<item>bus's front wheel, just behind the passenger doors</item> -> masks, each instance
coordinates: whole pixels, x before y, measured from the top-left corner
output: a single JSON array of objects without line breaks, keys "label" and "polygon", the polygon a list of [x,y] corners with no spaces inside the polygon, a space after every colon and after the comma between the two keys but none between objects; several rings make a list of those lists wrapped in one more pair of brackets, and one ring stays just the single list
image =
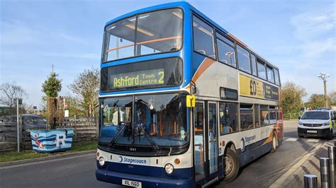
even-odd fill
[{"label": "bus's front wheel, just behind the passenger doors", "polygon": [[226,149],[224,155],[224,182],[232,182],[239,171],[239,160],[236,153],[230,148]]}]

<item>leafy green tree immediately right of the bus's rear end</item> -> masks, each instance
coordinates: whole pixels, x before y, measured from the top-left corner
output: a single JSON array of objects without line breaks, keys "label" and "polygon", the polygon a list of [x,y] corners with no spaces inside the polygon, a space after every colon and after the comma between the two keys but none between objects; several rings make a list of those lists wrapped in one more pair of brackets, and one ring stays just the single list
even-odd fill
[{"label": "leafy green tree immediately right of the bus's rear end", "polygon": [[284,113],[299,112],[303,107],[302,98],[306,96],[306,89],[288,81],[281,88],[281,102]]}]

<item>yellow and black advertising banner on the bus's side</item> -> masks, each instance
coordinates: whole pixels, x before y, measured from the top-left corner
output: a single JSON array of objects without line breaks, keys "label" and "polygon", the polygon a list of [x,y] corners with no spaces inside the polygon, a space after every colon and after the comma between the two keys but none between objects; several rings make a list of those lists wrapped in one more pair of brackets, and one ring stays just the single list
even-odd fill
[{"label": "yellow and black advertising banner on the bus's side", "polygon": [[249,76],[240,74],[239,85],[240,95],[242,96],[279,100],[279,88],[262,81],[257,81]]}]

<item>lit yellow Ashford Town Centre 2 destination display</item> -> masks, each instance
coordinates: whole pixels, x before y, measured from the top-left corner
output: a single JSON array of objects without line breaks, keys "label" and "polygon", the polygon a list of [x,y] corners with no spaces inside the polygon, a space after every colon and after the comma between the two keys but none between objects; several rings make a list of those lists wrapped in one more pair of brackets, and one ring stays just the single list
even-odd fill
[{"label": "lit yellow Ashford Town Centre 2 destination display", "polygon": [[134,71],[110,76],[110,88],[128,88],[164,84],[164,69]]}]

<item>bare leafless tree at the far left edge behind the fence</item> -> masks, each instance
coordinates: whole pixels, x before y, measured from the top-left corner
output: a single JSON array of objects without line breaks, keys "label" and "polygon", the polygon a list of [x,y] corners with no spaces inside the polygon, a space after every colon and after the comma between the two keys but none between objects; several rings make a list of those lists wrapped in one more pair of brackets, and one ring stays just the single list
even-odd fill
[{"label": "bare leafless tree at the far left edge behind the fence", "polygon": [[27,98],[28,94],[21,86],[16,82],[6,82],[0,85],[0,105],[7,107],[13,107],[16,104],[13,103],[14,98]]}]

